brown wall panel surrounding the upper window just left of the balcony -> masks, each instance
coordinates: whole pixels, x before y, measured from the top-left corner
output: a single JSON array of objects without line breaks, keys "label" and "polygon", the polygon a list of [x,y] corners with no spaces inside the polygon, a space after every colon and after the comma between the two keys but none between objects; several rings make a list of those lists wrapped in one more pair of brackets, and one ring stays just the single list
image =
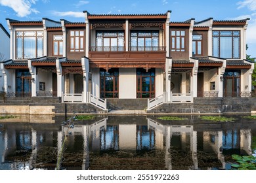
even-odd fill
[{"label": "brown wall panel surrounding the upper window just left of the balcony", "polygon": [[[70,27],[69,29],[66,29],[66,33],[67,33],[66,34],[66,54],[68,59],[81,59],[82,57],[85,56],[85,50],[84,52],[70,52],[70,31],[76,31],[76,30],[85,31],[85,29],[81,29],[81,27],[79,27],[79,29],[77,29],[77,27],[72,27],[72,28]],[[84,48],[85,48],[85,37],[84,37]]]}]

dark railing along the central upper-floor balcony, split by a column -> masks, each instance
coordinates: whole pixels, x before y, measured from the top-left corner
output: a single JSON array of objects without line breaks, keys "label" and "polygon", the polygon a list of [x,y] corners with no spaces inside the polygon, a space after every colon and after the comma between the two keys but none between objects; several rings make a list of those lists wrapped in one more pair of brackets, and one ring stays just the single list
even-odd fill
[{"label": "dark railing along the central upper-floor balcony, split by a column", "polygon": [[[90,46],[90,52],[125,52],[124,46]],[[159,52],[165,51],[165,46],[130,46],[129,52]]]}]

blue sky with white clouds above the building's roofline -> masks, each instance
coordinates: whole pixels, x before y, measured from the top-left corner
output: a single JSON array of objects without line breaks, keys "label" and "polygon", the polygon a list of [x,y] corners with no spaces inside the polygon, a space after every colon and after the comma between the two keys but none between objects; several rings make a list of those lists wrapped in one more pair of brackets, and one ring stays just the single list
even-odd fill
[{"label": "blue sky with white clouds above the building's roofline", "polygon": [[256,0],[0,0],[0,23],[7,29],[5,18],[64,18],[83,22],[83,10],[91,14],[151,14],[171,10],[171,21],[251,18],[247,28],[247,54],[256,57]]}]

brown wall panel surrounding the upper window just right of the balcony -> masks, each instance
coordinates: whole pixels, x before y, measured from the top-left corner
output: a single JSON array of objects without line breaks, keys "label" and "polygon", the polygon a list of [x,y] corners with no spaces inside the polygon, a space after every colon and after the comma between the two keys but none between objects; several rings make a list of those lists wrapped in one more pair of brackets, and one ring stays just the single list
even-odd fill
[{"label": "brown wall panel surrounding the upper window just right of the balcony", "polygon": [[[184,52],[171,52],[171,31],[175,31],[175,30],[184,30],[185,31],[185,51]],[[188,29],[182,29],[182,28],[171,28],[170,29],[170,54],[171,54],[171,58],[173,58],[174,60],[179,60],[179,59],[189,59],[189,31]]]}]

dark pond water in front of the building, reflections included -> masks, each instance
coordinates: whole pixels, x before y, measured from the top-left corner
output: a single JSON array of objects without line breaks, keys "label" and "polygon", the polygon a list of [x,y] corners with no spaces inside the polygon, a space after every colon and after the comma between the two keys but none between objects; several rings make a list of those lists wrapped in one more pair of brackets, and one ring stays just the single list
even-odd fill
[{"label": "dark pond water in front of the building, reflections included", "polygon": [[0,169],[56,169],[61,152],[62,169],[231,169],[232,154],[255,153],[256,120],[158,117],[96,116],[75,121],[71,129],[64,116],[3,119]]}]

